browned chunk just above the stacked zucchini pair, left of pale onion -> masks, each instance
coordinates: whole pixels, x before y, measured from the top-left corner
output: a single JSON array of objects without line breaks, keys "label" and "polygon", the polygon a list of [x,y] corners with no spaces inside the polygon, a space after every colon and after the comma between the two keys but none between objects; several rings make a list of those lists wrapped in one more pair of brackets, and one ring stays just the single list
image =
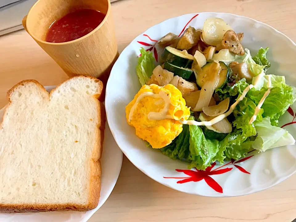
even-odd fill
[{"label": "browned chunk just above the stacked zucchini pair, left of pale onion", "polygon": [[188,50],[192,46],[195,46],[200,39],[200,34],[201,34],[200,30],[198,29],[195,30],[195,28],[189,26],[184,32],[184,34],[182,35],[182,37],[180,38],[177,44],[177,49]]}]

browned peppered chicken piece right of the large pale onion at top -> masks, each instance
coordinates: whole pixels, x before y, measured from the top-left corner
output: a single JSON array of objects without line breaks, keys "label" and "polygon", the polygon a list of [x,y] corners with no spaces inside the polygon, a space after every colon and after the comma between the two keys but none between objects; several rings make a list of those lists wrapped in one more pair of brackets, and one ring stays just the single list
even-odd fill
[{"label": "browned peppered chicken piece right of the large pale onion at top", "polygon": [[239,37],[233,30],[225,32],[222,38],[221,45],[223,48],[228,49],[236,55],[245,55],[244,48],[241,45]]}]

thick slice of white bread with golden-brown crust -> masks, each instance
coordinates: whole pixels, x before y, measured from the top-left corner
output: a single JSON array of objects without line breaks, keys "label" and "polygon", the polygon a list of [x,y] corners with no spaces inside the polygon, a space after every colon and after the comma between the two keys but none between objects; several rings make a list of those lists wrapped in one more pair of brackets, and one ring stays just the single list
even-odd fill
[{"label": "thick slice of white bread with golden-brown crust", "polygon": [[103,84],[75,76],[49,94],[35,80],[7,92],[0,125],[0,211],[87,211],[101,187]]}]

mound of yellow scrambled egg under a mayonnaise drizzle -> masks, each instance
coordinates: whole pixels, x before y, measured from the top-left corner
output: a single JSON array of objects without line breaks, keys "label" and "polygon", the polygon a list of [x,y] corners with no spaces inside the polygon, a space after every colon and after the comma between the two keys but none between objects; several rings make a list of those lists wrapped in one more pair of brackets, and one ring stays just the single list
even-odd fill
[{"label": "mound of yellow scrambled egg under a mayonnaise drizzle", "polygon": [[[161,91],[167,93],[170,98],[171,104],[167,115],[174,119],[149,120],[148,113],[161,111],[165,102],[162,98],[147,96],[139,101],[131,121],[129,121],[130,111],[143,92],[159,93]],[[149,142],[153,148],[162,148],[170,144],[182,132],[183,125],[178,120],[187,120],[190,116],[190,108],[186,107],[181,92],[172,84],[163,87],[151,84],[142,86],[134,99],[125,107],[125,113],[127,122],[135,127],[136,135],[139,138]]]}]

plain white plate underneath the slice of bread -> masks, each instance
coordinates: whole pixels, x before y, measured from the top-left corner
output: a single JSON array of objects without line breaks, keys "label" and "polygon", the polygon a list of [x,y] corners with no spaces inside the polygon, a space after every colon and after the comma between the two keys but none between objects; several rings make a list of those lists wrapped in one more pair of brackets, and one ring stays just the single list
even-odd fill
[{"label": "plain white plate underneath the slice of bread", "polygon": [[[50,92],[55,86],[46,86]],[[4,108],[0,110],[0,119],[2,119]],[[107,200],[111,194],[122,164],[122,152],[117,146],[114,138],[110,132],[108,123],[106,122],[105,138],[103,144],[103,154],[101,157],[102,166],[102,181],[101,193],[98,206],[87,212],[76,211],[55,211],[55,212],[41,212],[41,213],[2,213],[0,214],[0,221],[15,222],[15,221],[30,221],[30,222],[85,222],[87,221]]]}]

